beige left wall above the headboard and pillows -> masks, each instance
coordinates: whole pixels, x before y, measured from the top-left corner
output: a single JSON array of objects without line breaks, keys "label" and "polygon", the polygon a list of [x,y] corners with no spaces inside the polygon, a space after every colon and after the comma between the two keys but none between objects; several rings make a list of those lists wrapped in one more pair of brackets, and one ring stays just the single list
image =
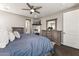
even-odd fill
[{"label": "beige left wall above the headboard and pillows", "polygon": [[25,17],[0,11],[0,27],[24,27]]}]

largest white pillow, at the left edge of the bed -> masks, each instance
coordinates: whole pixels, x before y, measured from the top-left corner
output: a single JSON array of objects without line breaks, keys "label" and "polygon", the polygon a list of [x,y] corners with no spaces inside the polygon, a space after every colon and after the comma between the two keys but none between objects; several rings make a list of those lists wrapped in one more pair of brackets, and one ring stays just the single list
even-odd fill
[{"label": "largest white pillow, at the left edge of the bed", "polygon": [[0,30],[0,48],[5,48],[9,43],[8,31]]}]

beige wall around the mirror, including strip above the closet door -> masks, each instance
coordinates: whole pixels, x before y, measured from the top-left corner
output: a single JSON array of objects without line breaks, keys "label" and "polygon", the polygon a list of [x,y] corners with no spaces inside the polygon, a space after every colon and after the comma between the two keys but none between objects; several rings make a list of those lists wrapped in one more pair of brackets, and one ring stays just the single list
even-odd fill
[{"label": "beige wall around the mirror, including strip above the closet door", "polygon": [[52,14],[51,16],[41,18],[41,30],[46,30],[46,20],[55,19],[57,18],[57,30],[63,31],[63,13],[79,9],[79,6],[74,6],[69,9],[60,11],[58,13]]}]

